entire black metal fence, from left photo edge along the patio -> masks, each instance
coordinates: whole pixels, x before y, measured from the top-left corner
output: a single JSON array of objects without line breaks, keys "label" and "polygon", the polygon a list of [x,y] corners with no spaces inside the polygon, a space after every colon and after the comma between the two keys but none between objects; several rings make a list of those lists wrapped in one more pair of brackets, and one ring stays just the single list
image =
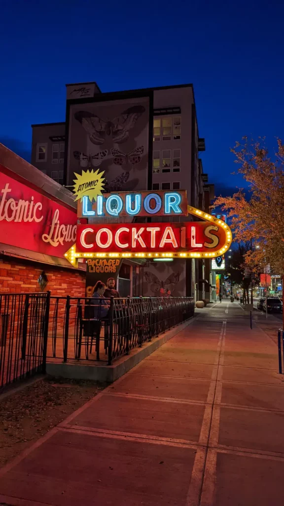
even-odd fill
[{"label": "entire black metal fence, from left photo edge along the patio", "polygon": [[46,358],[111,364],[194,315],[191,298],[0,295],[0,389],[44,372]]}]

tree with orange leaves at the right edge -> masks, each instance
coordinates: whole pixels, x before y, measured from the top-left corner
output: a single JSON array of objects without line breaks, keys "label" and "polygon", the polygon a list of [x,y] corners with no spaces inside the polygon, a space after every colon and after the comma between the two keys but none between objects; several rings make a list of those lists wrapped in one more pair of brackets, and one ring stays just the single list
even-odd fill
[{"label": "tree with orange leaves at the right edge", "polygon": [[249,184],[249,198],[243,189],[232,197],[218,197],[215,205],[226,210],[235,239],[250,241],[246,265],[263,272],[270,265],[277,274],[284,273],[284,145],[278,139],[273,159],[264,145],[244,137],[231,149],[242,174]]}]

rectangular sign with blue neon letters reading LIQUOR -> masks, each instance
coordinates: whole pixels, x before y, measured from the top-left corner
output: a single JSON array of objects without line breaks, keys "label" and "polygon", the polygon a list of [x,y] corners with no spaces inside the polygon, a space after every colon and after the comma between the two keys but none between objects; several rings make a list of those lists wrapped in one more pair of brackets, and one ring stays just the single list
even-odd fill
[{"label": "rectangular sign with blue neon letters reading LIQUOR", "polygon": [[93,202],[83,195],[77,212],[78,218],[187,215],[185,190],[104,193]]}]

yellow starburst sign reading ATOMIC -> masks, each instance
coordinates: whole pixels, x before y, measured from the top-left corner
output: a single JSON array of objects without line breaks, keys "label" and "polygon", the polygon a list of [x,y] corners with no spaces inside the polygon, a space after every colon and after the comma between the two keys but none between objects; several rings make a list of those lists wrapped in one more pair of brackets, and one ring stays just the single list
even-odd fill
[{"label": "yellow starburst sign reading ATOMIC", "polygon": [[83,199],[84,196],[89,197],[90,201],[97,200],[98,195],[102,195],[102,190],[104,189],[104,181],[105,178],[104,172],[99,172],[99,169],[94,172],[91,171],[82,171],[82,174],[75,174],[77,179],[74,179],[74,190],[73,192],[76,195],[75,201]]}]

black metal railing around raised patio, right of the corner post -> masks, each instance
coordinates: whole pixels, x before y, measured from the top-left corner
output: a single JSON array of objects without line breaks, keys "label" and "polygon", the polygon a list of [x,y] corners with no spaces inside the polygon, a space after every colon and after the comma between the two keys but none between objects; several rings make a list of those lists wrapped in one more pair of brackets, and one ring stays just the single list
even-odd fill
[{"label": "black metal railing around raised patio, right of the corner post", "polygon": [[51,297],[47,357],[110,365],[194,315],[192,298]]}]

